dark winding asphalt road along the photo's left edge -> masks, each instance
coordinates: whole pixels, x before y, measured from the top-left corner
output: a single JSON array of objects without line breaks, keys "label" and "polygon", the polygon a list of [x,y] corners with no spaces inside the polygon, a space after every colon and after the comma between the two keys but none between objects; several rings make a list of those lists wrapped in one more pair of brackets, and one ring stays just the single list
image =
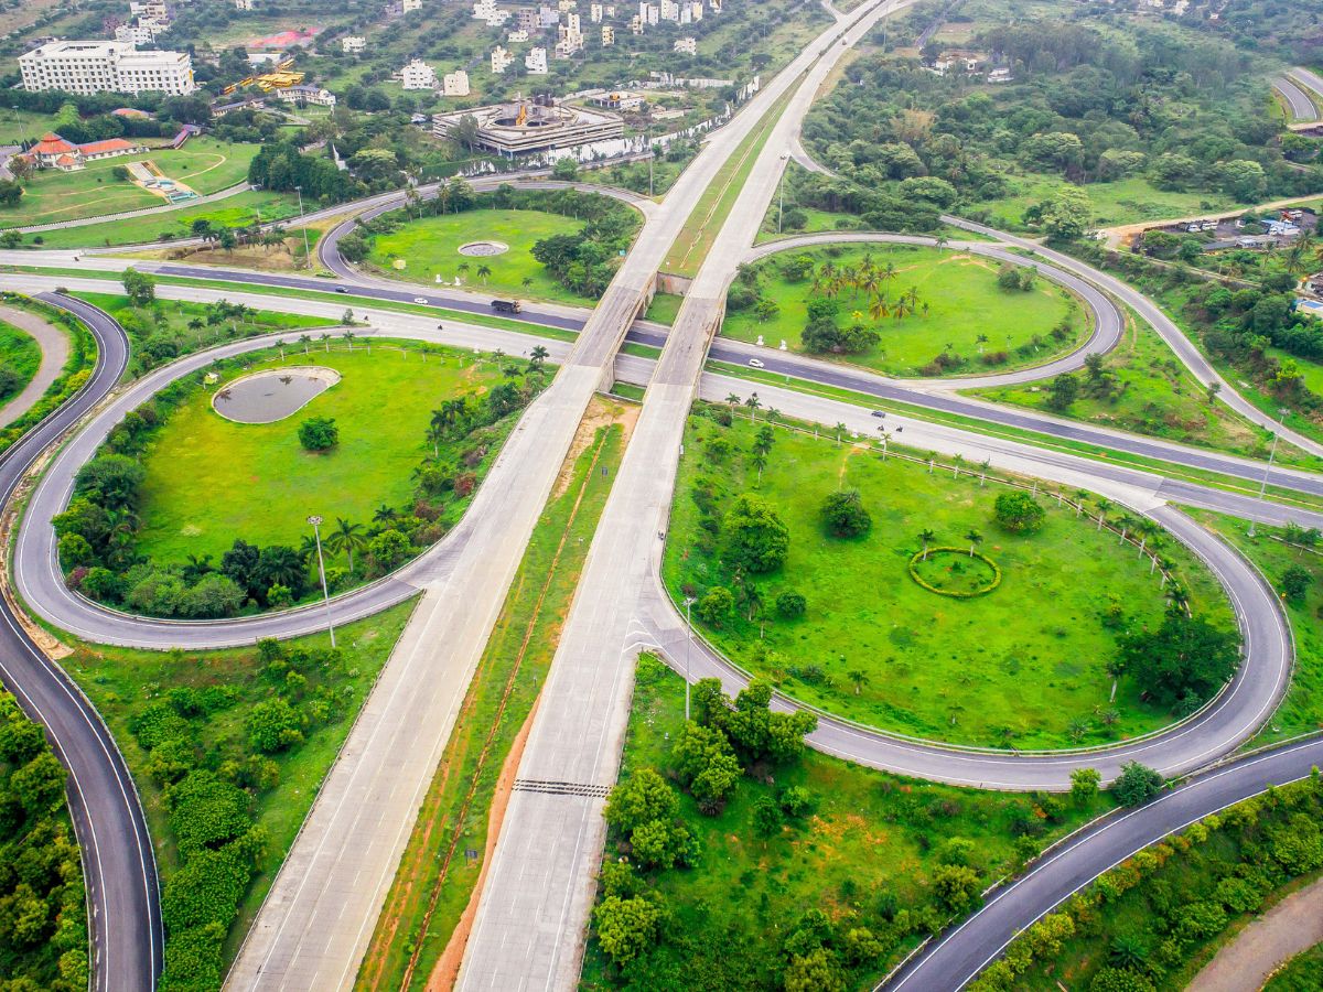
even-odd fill
[{"label": "dark winding asphalt road along the photo's left edge", "polygon": [[[42,294],[73,310],[97,339],[98,358],[85,389],[0,455],[0,501],[9,504],[29,466],[86,413],[123,373],[128,341],[99,311]],[[33,643],[0,600],[0,679],[41,722],[69,770],[67,795],[82,854],[97,992],[149,989],[161,968],[156,862],[138,794],[115,741],[91,704]]]}]

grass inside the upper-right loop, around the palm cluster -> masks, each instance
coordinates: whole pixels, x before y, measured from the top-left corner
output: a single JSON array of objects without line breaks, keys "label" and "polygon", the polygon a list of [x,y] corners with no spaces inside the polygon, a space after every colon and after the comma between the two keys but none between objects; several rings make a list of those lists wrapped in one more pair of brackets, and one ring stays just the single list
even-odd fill
[{"label": "grass inside the upper-right loop, around the palm cluster", "polygon": [[[889,298],[896,299],[912,287],[916,290],[919,307],[902,319],[869,317],[867,292],[847,287],[836,298],[841,311],[837,323],[853,323],[853,313],[859,312],[859,323],[881,335],[877,345],[845,358],[888,374],[931,374],[931,369],[927,373],[921,370],[943,352],[963,360],[951,369],[962,374],[1039,365],[1054,354],[1069,352],[1089,329],[1089,320],[1074,296],[1046,279],[1036,279],[1029,291],[1008,291],[998,287],[996,262],[978,255],[909,245],[859,245],[787,251],[763,259],[755,271],[761,276],[763,296],[779,308],[777,315],[759,321],[753,308],[728,312],[722,335],[741,341],[757,341],[762,336],[773,348],[785,340],[792,351],[804,351],[800,332],[808,323],[807,306],[822,295],[822,290],[814,288],[811,276],[790,282],[782,275],[781,267],[799,255],[812,258],[819,272],[828,262],[841,270],[857,267],[865,257],[872,258],[878,269],[896,269],[894,279],[885,284]],[[1065,340],[1056,341],[1049,335],[1062,321],[1069,321],[1070,333]],[[987,340],[980,343],[979,336]],[[1035,339],[1040,341],[1037,351],[1033,351]],[[980,348],[987,353],[1008,352],[1011,361],[986,366],[978,361]],[[1024,354],[1016,352],[1021,348]]]}]

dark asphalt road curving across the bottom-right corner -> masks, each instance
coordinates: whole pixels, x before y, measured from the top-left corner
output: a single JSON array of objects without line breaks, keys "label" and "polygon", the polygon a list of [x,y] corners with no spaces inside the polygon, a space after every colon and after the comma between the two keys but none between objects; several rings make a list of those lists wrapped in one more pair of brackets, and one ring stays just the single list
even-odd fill
[{"label": "dark asphalt road curving across the bottom-right corner", "polygon": [[1318,765],[1323,765],[1323,741],[1306,741],[1213,770],[1147,806],[1109,816],[1073,835],[1024,874],[998,888],[980,910],[938,936],[878,988],[889,992],[963,988],[1021,930],[1107,869],[1269,786],[1306,778]]}]

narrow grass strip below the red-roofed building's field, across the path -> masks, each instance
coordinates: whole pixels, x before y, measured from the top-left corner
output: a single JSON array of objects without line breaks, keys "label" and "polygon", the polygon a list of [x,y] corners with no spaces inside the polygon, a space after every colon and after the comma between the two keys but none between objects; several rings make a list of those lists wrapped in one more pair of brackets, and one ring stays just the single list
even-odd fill
[{"label": "narrow grass strip below the red-roofed building's field, across the path", "polygon": [[[148,206],[156,205],[148,204]],[[177,210],[130,217],[124,221],[107,221],[82,227],[61,227],[41,234],[25,234],[24,243],[37,243],[36,238],[41,238],[41,246],[49,249],[144,245],[153,241],[191,237],[193,221],[202,218],[226,227],[246,227],[258,221],[287,221],[298,216],[298,202],[288,193],[250,189],[246,193],[235,193],[212,204],[181,206]]]}]

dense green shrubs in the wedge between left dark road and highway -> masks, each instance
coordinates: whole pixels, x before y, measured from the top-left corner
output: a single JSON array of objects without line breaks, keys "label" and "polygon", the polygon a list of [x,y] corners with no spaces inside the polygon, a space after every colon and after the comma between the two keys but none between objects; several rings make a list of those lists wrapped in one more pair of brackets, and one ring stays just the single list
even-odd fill
[{"label": "dense green shrubs in the wedge between left dark road and highway", "polygon": [[221,987],[225,938],[266,853],[254,806],[279,784],[280,761],[347,716],[343,652],[257,648],[245,682],[176,685],[128,721],[179,852],[161,891],[163,992]]}]

